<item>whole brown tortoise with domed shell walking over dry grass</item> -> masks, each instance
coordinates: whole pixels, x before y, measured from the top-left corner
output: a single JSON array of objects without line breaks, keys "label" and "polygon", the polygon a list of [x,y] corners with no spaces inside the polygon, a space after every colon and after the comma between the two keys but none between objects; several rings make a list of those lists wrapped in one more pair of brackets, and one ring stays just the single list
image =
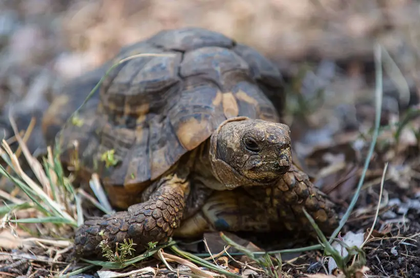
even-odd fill
[{"label": "whole brown tortoise with domed shell walking over dry grass", "polygon": [[[110,65],[132,55],[65,124]],[[255,49],[192,27],[124,47],[71,82],[44,115],[45,137],[59,138],[77,176],[98,173],[120,209],[77,229],[76,256],[100,256],[103,240],[114,248],[130,238],[140,251],[205,231],[308,233],[303,209],[323,231],[337,226],[333,204],[292,162],[282,84]]]}]

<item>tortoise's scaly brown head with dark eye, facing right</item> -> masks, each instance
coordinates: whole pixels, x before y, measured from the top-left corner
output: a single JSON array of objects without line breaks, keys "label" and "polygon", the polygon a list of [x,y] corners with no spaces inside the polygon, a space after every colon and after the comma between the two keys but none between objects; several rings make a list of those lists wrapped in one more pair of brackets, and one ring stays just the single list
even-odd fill
[{"label": "tortoise's scaly brown head with dark eye, facing right", "polygon": [[228,119],[212,134],[210,158],[226,189],[271,184],[290,169],[290,129],[247,117]]}]

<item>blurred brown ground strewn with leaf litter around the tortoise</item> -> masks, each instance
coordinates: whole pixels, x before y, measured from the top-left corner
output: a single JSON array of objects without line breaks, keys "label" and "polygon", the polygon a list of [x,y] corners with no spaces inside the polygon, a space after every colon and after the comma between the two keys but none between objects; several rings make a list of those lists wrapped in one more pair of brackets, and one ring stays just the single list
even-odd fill
[{"label": "blurred brown ground strewn with leaf litter around the tortoise", "polygon": [[[372,139],[374,45],[379,43],[384,60],[381,129],[360,198],[342,234],[367,236],[371,230],[388,162],[379,213],[363,248],[370,269],[365,276],[418,277],[419,13],[420,4],[409,0],[3,0],[0,134],[4,127],[5,138],[12,136],[11,110],[22,125],[29,124],[28,116],[39,119],[63,84],[112,58],[120,47],[163,29],[204,27],[276,62],[287,84],[285,120],[296,151],[293,159],[343,214]],[[46,147],[40,132],[38,121],[28,140],[35,154]],[[278,249],[276,240],[274,236],[265,249]],[[0,245],[10,252],[1,238]],[[40,250],[37,246],[31,252]],[[4,253],[0,276],[48,275],[43,262],[10,259]],[[284,277],[326,273],[322,255],[310,251],[283,259]]]}]

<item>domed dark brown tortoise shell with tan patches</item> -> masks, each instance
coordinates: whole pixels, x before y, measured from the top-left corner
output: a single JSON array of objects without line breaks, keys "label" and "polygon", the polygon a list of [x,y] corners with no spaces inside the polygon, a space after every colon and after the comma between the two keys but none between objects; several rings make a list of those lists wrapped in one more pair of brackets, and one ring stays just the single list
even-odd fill
[{"label": "domed dark brown tortoise shell with tan patches", "polygon": [[[113,61],[81,77],[84,87],[73,82],[73,89],[61,96],[72,102],[52,104],[45,132],[57,130],[62,123],[57,119],[63,118],[57,113],[66,114],[69,107],[74,111],[89,94],[86,84],[93,88],[92,80],[99,81],[105,67],[136,54],[166,56],[122,62],[78,112],[81,124],[70,123],[61,131],[64,149],[74,149],[77,140],[82,166],[99,173],[116,206],[136,202],[132,199],[137,193],[208,139],[224,120],[280,120],[282,77],[271,62],[220,33],[183,28],[122,48]],[[101,158],[111,150],[118,163],[107,167]],[[63,155],[68,162],[70,154]]]}]

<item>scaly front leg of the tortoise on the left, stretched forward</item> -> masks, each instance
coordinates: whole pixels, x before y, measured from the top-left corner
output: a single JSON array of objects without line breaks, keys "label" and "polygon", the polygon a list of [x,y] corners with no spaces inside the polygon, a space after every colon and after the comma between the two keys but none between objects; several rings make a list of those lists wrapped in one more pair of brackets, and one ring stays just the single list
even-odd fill
[{"label": "scaly front leg of the tortoise on the left, stretched forward", "polygon": [[108,240],[115,250],[116,243],[132,239],[137,251],[144,250],[149,242],[162,242],[172,236],[180,225],[190,182],[171,174],[162,178],[149,200],[132,205],[128,211],[88,220],[78,228],[74,245],[76,256],[100,256],[99,244]]}]

